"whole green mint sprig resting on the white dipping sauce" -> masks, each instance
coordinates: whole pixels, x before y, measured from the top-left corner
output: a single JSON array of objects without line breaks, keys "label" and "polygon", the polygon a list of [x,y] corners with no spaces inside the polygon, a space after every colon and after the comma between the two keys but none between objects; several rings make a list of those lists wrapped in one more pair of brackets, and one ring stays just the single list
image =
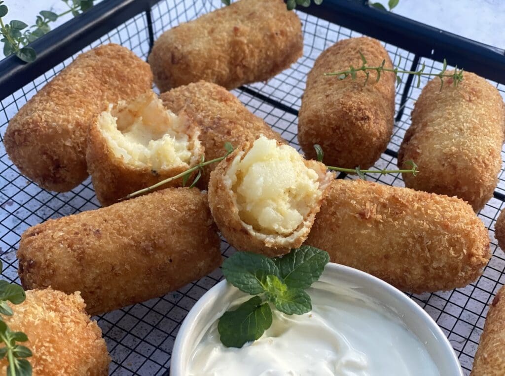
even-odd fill
[{"label": "whole green mint sprig resting on the white dipping sauce", "polygon": [[218,332],[226,347],[242,347],[259,339],[272,325],[272,304],[286,315],[302,315],[312,309],[305,291],[330,261],[324,250],[302,245],[288,255],[266,256],[237,252],[223,262],[223,274],[233,286],[256,295],[219,319]]}]

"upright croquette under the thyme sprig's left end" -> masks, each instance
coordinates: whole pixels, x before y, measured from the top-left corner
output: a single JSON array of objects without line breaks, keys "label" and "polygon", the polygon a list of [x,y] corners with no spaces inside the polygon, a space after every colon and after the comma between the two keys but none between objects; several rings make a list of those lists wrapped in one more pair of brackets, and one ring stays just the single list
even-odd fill
[{"label": "upright croquette under the thyme sprig's left end", "polygon": [[[307,158],[315,158],[314,144],[324,150],[325,163],[345,168],[368,168],[386,149],[393,130],[395,75],[357,72],[340,80],[325,73],[361,67],[360,51],[370,67],[385,61],[387,51],[376,39],[349,38],[335,43],[317,58],[307,77],[298,120],[298,141]],[[366,84],[365,84],[366,81]]]}]

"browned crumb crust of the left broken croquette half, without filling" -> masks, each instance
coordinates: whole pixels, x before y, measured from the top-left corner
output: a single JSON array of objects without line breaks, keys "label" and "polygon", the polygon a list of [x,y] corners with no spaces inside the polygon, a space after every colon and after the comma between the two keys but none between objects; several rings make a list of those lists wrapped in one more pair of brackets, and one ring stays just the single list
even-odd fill
[{"label": "browned crumb crust of the left broken croquette half, without filling", "polygon": [[[204,148],[196,146],[194,143],[194,140],[198,139],[200,131],[196,123],[184,111],[179,112],[178,116],[182,116],[184,121],[190,123],[189,132],[192,135],[194,149],[190,167],[193,167],[201,161],[201,157],[204,155]],[[94,121],[88,130],[86,162],[96,198],[102,206],[115,204],[133,192],[187,170],[187,167],[184,166],[153,170],[148,166],[138,167],[125,163],[122,157],[116,156],[111,150],[97,121]],[[182,177],[172,180],[158,189],[179,186],[182,186]]]}]

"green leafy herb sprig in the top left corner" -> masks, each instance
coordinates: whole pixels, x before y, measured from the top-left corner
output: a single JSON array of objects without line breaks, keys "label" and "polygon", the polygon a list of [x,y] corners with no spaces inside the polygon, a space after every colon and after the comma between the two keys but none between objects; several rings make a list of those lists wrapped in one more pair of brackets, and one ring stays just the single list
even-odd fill
[{"label": "green leafy herb sprig in the top left corner", "polygon": [[[0,34],[3,37],[0,42],[4,43],[4,55],[9,56],[14,53],[25,62],[34,61],[37,58],[37,53],[27,45],[51,31],[50,22],[55,22],[69,13],[72,16],[77,16],[93,6],[93,0],[62,1],[68,6],[68,10],[60,14],[52,11],[40,11],[35,24],[31,26],[19,20],[12,20],[8,24],[4,23],[3,17],[9,13],[9,9],[4,1],[0,1]],[[21,32],[22,30],[24,32]]]}]

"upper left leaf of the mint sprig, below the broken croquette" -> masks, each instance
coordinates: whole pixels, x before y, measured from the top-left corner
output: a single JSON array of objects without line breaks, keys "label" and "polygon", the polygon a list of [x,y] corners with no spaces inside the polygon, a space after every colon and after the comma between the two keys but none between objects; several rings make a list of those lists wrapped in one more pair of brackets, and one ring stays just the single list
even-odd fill
[{"label": "upper left leaf of the mint sprig, below the broken croquette", "polygon": [[267,289],[267,276],[279,275],[275,263],[266,256],[237,252],[223,262],[223,274],[228,282],[250,295]]}]

